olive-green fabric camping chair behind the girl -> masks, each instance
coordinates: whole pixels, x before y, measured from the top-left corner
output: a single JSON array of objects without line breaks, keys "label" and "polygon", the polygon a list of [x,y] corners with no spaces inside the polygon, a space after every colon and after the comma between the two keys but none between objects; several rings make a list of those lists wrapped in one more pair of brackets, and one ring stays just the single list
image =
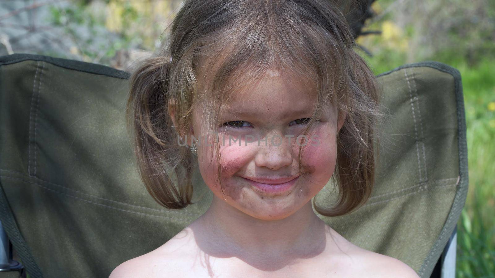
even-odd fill
[{"label": "olive-green fabric camping chair behind the girl", "polygon": [[[125,127],[128,78],[99,64],[0,57],[4,269],[16,267],[10,240],[30,277],[108,277],[208,208],[212,194],[198,169],[195,204],[169,210],[148,194]],[[397,258],[420,277],[453,278],[455,226],[468,188],[460,74],[427,61],[378,80],[387,117],[376,187],[358,210],[318,216],[354,244]],[[332,205],[331,188],[329,182],[315,197],[319,203]],[[0,272],[0,278],[17,276]]]}]

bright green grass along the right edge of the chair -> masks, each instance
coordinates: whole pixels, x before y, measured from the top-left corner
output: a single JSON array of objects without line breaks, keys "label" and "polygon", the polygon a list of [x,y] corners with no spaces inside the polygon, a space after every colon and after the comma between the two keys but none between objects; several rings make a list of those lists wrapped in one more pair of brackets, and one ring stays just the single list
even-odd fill
[{"label": "bright green grass along the right edge of the chair", "polygon": [[[406,55],[391,49],[373,54],[365,58],[375,74],[406,64]],[[469,65],[444,53],[425,60],[446,63],[462,78],[469,189],[457,223],[456,277],[495,277],[495,58]]]}]

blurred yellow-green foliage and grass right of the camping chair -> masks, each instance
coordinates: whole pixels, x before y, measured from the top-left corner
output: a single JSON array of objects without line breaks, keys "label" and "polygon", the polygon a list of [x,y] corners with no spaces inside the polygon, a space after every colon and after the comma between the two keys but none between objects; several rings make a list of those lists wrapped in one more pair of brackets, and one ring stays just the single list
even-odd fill
[{"label": "blurred yellow-green foliage and grass right of the camping chair", "polygon": [[376,74],[423,60],[461,73],[469,190],[457,224],[456,277],[495,277],[495,1],[379,0],[373,8],[381,18],[368,26],[382,36],[358,43],[373,53],[363,56]]}]

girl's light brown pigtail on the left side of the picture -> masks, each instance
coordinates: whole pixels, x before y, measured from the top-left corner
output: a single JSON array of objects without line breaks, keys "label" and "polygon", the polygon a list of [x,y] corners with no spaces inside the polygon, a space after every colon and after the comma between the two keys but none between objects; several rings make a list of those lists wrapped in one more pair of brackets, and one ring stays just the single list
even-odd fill
[{"label": "girl's light brown pigtail on the left side of the picture", "polygon": [[168,113],[171,59],[153,55],[137,64],[129,81],[126,121],[141,180],[160,205],[192,204],[191,153],[177,142]]}]

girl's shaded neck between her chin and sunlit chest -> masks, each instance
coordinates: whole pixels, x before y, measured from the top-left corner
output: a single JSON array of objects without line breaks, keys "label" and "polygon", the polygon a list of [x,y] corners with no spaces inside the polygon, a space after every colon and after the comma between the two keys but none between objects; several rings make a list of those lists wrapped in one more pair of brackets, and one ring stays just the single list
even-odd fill
[{"label": "girl's shaded neck between her chin and sunlit chest", "polygon": [[211,206],[198,220],[195,230],[208,242],[201,249],[215,257],[277,258],[280,262],[314,257],[326,246],[327,225],[314,213],[311,201],[286,218],[260,220],[214,195]]}]

